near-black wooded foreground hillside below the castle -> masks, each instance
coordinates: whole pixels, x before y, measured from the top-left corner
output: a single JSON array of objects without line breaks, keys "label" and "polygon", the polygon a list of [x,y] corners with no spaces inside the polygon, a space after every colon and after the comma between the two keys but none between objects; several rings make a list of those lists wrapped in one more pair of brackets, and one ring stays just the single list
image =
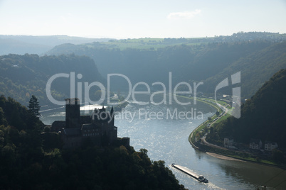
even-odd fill
[{"label": "near-black wooded foreground hillside below the castle", "polygon": [[88,142],[61,150],[60,136],[43,133],[43,126],[26,107],[0,96],[0,189],[184,189],[147,150]]}]

